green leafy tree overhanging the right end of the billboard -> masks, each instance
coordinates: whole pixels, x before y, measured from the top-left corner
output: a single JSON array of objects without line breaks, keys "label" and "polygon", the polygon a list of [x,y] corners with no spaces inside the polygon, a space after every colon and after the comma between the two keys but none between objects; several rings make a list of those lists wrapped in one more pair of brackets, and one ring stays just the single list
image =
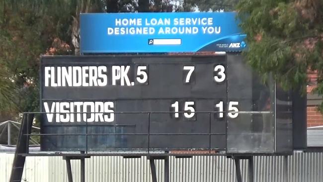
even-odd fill
[{"label": "green leafy tree overhanging the right end of the billboard", "polygon": [[273,74],[284,89],[301,87],[303,93],[307,72],[317,70],[315,92],[322,95],[322,0],[241,0],[237,8],[249,64],[264,78]]}]

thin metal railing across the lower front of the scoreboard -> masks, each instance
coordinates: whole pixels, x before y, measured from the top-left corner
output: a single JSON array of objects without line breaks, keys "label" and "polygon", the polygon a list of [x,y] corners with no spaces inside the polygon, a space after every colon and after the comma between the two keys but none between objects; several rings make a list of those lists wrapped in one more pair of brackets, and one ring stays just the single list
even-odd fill
[{"label": "thin metal railing across the lower front of the scoreboard", "polygon": [[[30,118],[30,115],[33,115],[32,118],[34,118],[35,114],[41,115],[41,118],[44,118],[44,114],[95,114],[95,113],[102,113],[102,112],[24,112],[23,113],[23,117],[24,118]],[[211,118],[212,118],[212,114],[217,114],[217,113],[240,113],[240,114],[272,114],[272,111],[199,111],[199,112],[192,112],[192,113],[196,113],[196,117],[198,117],[198,114],[208,114],[208,132],[197,132],[197,133],[152,133],[151,132],[151,115],[152,114],[172,114],[172,113],[187,113],[187,111],[178,111],[178,112],[171,112],[171,111],[165,111],[165,112],[105,112],[104,114],[145,114],[147,118],[147,132],[143,132],[143,133],[89,133],[88,132],[88,127],[89,126],[108,126],[108,127],[129,127],[129,126],[136,126],[136,124],[99,124],[99,125],[95,125],[95,124],[88,124],[87,121],[82,121],[85,122],[85,124],[63,124],[61,125],[62,127],[64,126],[79,126],[79,127],[85,127],[85,132],[84,133],[31,133],[29,131],[29,127],[27,127],[27,132],[23,133],[24,136],[26,136],[26,148],[28,149],[29,147],[29,138],[30,136],[40,136],[41,140],[44,139],[42,137],[46,137],[46,136],[85,136],[85,148],[84,150],[81,151],[82,154],[92,154],[91,150],[88,149],[88,136],[108,136],[108,135],[112,135],[112,136],[147,136],[147,147],[146,148],[140,148],[142,149],[140,151],[140,155],[142,155],[143,153],[150,155],[150,154],[155,154],[156,155],[156,151],[167,151],[167,150],[186,150],[188,151],[189,148],[178,148],[178,149],[168,149],[168,148],[151,148],[151,136],[159,136],[159,135],[173,135],[173,136],[192,136],[192,135],[207,135],[208,136],[208,147],[207,148],[197,148],[199,151],[203,152],[203,154],[207,155],[219,155],[217,153],[217,151],[219,151],[218,148],[214,148],[211,146],[211,136],[212,135],[227,135],[227,131],[224,131],[222,133],[212,133],[211,132]],[[44,119],[41,119],[40,122],[44,122]],[[226,122],[226,126],[227,126],[227,121],[228,119],[225,119],[223,122]],[[30,126],[30,124],[32,124],[33,119],[26,119],[26,126]],[[31,122],[31,123],[30,123]],[[190,122],[190,121],[188,121]],[[79,122],[77,122],[79,123]],[[94,123],[94,122],[93,122]],[[46,125],[46,126],[50,126],[50,125]],[[57,126],[57,125],[52,125],[52,126]],[[42,128],[42,124],[41,124],[41,128]],[[42,131],[42,130],[41,130]],[[82,148],[82,147],[80,147]],[[117,149],[119,148],[103,148],[102,150],[97,150],[97,151],[109,151],[108,154],[111,154],[113,152],[111,151],[118,151]],[[111,150],[111,151],[110,151]],[[121,149],[123,150],[123,149]],[[132,150],[132,148],[128,148],[126,151],[130,151]],[[138,148],[136,148],[136,150],[138,150]],[[225,149],[222,149],[225,150]],[[52,152],[66,152],[68,150],[61,150],[61,151],[52,151]],[[144,152],[143,152],[144,151]],[[73,151],[73,152],[77,152],[77,150]],[[123,153],[123,155],[134,155],[135,152],[129,152],[129,153]],[[27,151],[26,155],[29,154],[29,151]],[[180,155],[185,155],[184,153],[180,154]],[[192,153],[190,153],[189,155],[192,155]]]}]

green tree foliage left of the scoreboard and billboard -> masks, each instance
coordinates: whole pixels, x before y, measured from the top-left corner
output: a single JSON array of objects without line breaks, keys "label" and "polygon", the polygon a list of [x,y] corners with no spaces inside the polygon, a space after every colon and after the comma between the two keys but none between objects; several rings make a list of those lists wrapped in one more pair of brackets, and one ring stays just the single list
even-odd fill
[{"label": "green tree foliage left of the scoreboard and billboard", "polygon": [[60,13],[67,10],[63,6],[51,14],[58,8],[16,1],[0,4],[0,112],[10,111],[12,119],[19,112],[39,110],[39,56],[56,37],[70,41],[72,20],[72,12]]}]

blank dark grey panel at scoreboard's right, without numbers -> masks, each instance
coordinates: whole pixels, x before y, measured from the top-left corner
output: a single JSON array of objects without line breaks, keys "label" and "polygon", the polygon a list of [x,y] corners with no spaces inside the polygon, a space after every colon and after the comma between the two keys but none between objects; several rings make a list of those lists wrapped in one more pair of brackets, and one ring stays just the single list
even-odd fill
[{"label": "blank dark grey panel at scoreboard's right, without numbers", "polygon": [[228,117],[228,152],[273,153],[275,151],[275,83],[262,84],[242,60],[231,55],[228,65],[228,100],[237,100],[239,117]]}]

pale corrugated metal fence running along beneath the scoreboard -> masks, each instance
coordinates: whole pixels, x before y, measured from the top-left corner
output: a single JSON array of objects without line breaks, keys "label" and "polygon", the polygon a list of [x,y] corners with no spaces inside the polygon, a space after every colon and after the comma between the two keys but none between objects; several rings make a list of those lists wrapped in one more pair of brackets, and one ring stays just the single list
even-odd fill
[{"label": "pale corrugated metal fence running along beneath the scoreboard", "polygon": [[[0,182],[7,182],[13,154],[0,154]],[[288,182],[323,182],[323,153],[295,153],[287,159]],[[254,157],[254,182],[285,182],[283,156]],[[80,182],[80,162],[72,160],[74,182]],[[85,159],[86,182],[151,182],[146,157],[91,157]],[[158,182],[163,182],[163,161],[156,161]],[[170,182],[237,182],[234,160],[223,156],[170,157]],[[242,180],[247,182],[247,160],[241,161]],[[62,157],[27,157],[24,182],[68,182]]]}]

